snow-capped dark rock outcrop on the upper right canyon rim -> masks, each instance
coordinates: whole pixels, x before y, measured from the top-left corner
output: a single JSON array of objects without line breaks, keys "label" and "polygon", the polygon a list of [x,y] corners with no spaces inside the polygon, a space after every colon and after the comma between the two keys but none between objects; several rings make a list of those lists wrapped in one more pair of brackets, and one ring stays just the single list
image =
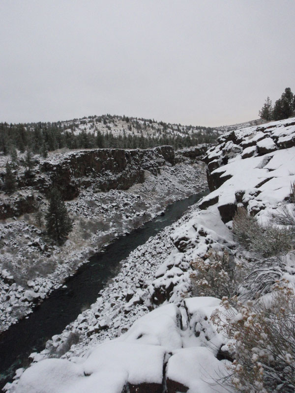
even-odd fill
[{"label": "snow-capped dark rock outcrop on the upper right canyon rim", "polygon": [[[275,163],[282,154],[285,155],[285,160],[293,157],[290,149],[295,146],[294,118],[231,131],[219,137],[218,142],[217,146],[207,151],[204,160],[211,194],[203,199],[200,208],[207,209],[218,203],[219,213],[225,223],[233,219],[238,203],[248,207],[249,198],[238,197],[246,189],[256,190],[256,196],[250,197],[253,200],[257,194],[269,188],[265,186],[266,183],[271,186],[271,182],[278,182],[274,178],[293,174],[292,165],[289,165],[289,173],[287,168],[286,174],[271,172],[277,169]],[[289,188],[290,180],[292,179],[286,180]],[[277,190],[274,187],[274,191]],[[265,205],[258,202],[262,202],[262,197],[258,197],[255,203],[251,202],[255,214],[265,208]]]}]

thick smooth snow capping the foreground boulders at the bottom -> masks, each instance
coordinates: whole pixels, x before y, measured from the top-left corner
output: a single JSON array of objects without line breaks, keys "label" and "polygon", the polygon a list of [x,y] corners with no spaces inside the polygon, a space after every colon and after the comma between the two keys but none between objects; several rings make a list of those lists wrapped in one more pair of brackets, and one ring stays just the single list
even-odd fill
[{"label": "thick smooth snow capping the foreground boulders at the bottom", "polygon": [[[207,307],[219,300],[205,299]],[[193,309],[204,304],[191,299]],[[195,311],[192,311],[195,313]],[[155,309],[136,321],[129,331],[117,339],[92,348],[83,358],[46,359],[29,367],[16,386],[16,393],[120,393],[128,383],[162,384],[163,365],[170,357],[166,378],[202,392],[212,392],[210,385],[225,363],[218,361],[208,348],[182,348],[180,310],[175,305]],[[184,372],[184,370],[186,370]],[[223,392],[223,391],[220,391]]]}]

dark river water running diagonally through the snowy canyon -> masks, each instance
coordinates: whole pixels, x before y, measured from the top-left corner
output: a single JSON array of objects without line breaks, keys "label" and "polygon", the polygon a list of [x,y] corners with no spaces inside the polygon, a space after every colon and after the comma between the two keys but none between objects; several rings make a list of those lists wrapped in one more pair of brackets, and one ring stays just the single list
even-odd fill
[{"label": "dark river water running diagonally through the snowy canyon", "polygon": [[89,308],[96,301],[98,292],[118,274],[122,259],[144,244],[150,236],[177,221],[189,206],[206,194],[207,192],[193,195],[169,205],[164,216],[118,238],[103,253],[93,255],[75,276],[68,279],[65,288],[56,289],[27,318],[2,333],[0,389],[11,380],[17,368],[29,364],[30,353],[42,351],[48,339],[60,334],[83,309]]}]

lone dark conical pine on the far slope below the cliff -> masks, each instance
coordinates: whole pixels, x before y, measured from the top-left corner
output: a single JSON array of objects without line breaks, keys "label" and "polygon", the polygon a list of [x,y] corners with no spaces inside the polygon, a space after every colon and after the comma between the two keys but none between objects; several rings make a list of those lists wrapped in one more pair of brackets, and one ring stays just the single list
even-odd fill
[{"label": "lone dark conical pine on the far slope below the cliff", "polygon": [[56,188],[50,194],[49,208],[45,219],[47,234],[59,243],[62,243],[73,229],[73,222],[68,215],[59,190]]}]

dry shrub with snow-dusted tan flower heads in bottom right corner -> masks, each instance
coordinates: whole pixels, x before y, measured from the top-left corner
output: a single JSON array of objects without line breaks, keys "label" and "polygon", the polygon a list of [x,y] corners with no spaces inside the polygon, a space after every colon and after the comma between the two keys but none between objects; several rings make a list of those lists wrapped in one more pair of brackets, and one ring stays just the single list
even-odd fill
[{"label": "dry shrub with snow-dusted tan flower heads in bottom right corner", "polygon": [[[233,300],[232,300],[233,301]],[[277,282],[272,304],[246,305],[228,298],[211,317],[229,340],[235,361],[223,383],[237,392],[294,393],[295,391],[295,295],[288,281]]]}]

